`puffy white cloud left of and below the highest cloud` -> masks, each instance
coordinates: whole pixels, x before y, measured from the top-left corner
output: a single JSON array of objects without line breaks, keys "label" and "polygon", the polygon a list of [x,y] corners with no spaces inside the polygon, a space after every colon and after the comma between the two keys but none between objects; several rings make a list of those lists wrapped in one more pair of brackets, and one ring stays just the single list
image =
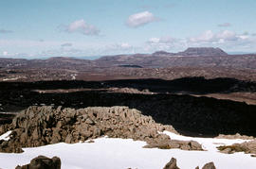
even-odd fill
[{"label": "puffy white cloud left of and below the highest cloud", "polygon": [[82,33],[83,35],[99,35],[100,30],[95,25],[89,25],[84,20],[77,20],[69,25],[62,25],[68,33]]}]

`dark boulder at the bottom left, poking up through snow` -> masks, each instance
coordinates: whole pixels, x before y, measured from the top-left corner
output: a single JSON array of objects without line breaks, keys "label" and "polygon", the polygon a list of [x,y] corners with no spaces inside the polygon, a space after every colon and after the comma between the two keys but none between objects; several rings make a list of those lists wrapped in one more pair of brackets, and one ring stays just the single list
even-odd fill
[{"label": "dark boulder at the bottom left, poking up through snow", "polygon": [[49,159],[45,156],[38,156],[27,165],[16,166],[15,169],[61,169],[62,162],[60,158],[53,157]]}]

